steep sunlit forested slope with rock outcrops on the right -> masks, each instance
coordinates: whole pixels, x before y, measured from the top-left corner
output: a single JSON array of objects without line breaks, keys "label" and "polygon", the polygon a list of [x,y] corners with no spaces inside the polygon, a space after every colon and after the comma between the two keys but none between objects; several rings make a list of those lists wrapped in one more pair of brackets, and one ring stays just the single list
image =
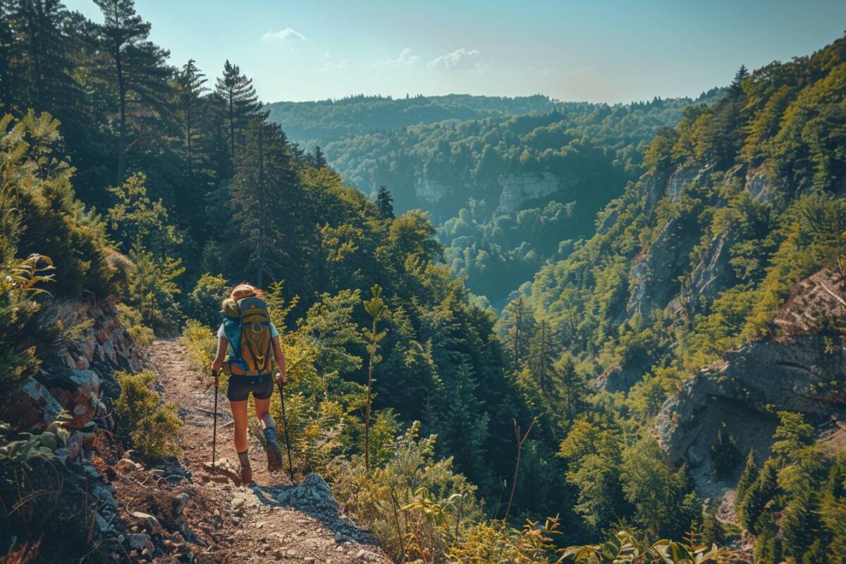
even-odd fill
[{"label": "steep sunlit forested slope with rock outcrops on the right", "polygon": [[[568,406],[541,411],[588,523],[627,515],[619,496],[657,449],[660,414],[711,511],[759,535],[756,561],[843,561],[843,285],[825,269],[846,249],[844,80],[844,39],[741,68],[725,97],[656,136],[596,235],[506,309],[530,397]],[[653,491],[672,492],[663,480]],[[630,507],[644,526],[665,518]]]}]

